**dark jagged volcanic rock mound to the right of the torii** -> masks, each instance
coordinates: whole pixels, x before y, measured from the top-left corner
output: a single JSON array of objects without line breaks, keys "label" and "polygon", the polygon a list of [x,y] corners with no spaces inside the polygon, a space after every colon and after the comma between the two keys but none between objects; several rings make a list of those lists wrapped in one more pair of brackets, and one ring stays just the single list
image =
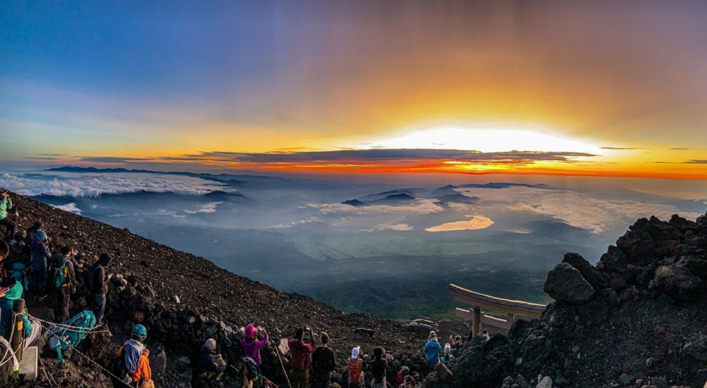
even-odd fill
[{"label": "dark jagged volcanic rock mound to the right of the torii", "polygon": [[540,319],[476,339],[450,363],[454,380],[425,387],[703,387],[706,285],[707,215],[641,218],[596,266],[566,254]]}]

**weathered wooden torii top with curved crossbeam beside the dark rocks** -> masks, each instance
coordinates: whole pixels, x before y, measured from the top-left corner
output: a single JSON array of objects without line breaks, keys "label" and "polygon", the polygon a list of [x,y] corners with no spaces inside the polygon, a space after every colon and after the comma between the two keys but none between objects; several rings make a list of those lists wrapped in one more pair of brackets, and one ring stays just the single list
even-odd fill
[{"label": "weathered wooden torii top with curved crossbeam beside the dark rocks", "polygon": [[[486,324],[498,327],[499,329],[508,330],[510,325],[515,321],[516,315],[539,318],[542,311],[545,310],[546,307],[545,305],[541,305],[539,303],[525,302],[525,300],[496,298],[493,295],[486,295],[477,293],[476,291],[467,290],[467,288],[457,286],[456,284],[450,284],[447,286],[447,291],[452,294],[452,297],[455,300],[474,307],[472,314],[469,314],[468,310],[457,309],[457,317],[472,319],[472,334],[474,334],[474,336],[479,334],[479,331],[481,330],[482,319]],[[481,307],[489,310],[505,312],[508,314],[508,319],[503,321],[503,319],[482,316]],[[471,315],[471,317],[469,317],[469,315]]]}]

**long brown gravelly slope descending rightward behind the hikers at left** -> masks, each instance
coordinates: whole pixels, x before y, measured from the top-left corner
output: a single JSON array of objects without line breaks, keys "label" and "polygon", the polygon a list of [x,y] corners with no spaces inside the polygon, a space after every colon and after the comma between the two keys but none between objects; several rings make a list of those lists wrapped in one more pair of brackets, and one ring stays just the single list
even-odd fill
[{"label": "long brown gravelly slope descending rightward behind the hikers at left", "polygon": [[[82,267],[79,272],[100,253],[112,254],[109,270],[117,276],[108,295],[107,320],[113,338],[106,334],[94,336],[90,341],[100,346],[91,348],[89,341],[84,350],[107,365],[129,328],[136,322],[143,323],[150,332],[148,347],[153,349],[151,362],[158,386],[189,386],[189,364],[209,337],[218,339],[219,351],[236,363],[240,346],[231,344],[240,341],[238,328],[247,323],[266,327],[273,344],[291,336],[297,327],[327,331],[341,363],[354,345],[361,345],[367,352],[374,346],[383,346],[392,353],[419,353],[425,341],[423,334],[405,331],[397,322],[344,314],[312,298],[281,293],[232,274],[206,259],[157,244],[129,230],[11,195],[22,228],[41,220],[55,244],[71,244],[78,249],[77,261]],[[86,307],[84,296],[79,287],[72,297],[72,314]],[[51,317],[44,302],[30,299],[28,306],[30,314]],[[70,368],[71,363],[55,365],[51,355],[47,356],[47,369],[59,384],[108,386],[105,373],[80,355],[69,356],[81,365],[77,370]],[[273,348],[264,354],[264,372],[271,379],[284,382]],[[229,379],[226,376],[226,386],[234,386]]]}]

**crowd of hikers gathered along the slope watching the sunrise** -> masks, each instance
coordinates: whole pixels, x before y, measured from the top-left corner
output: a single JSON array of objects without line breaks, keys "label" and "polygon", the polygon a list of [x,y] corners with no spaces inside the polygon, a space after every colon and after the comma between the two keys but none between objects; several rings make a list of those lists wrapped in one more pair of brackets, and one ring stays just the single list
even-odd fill
[{"label": "crowd of hikers gathered along the slope watching the sunrise", "polygon": [[[76,260],[77,251],[72,245],[60,244],[57,237],[45,230],[41,221],[35,221],[24,232],[18,232],[18,213],[11,211],[12,199],[3,192],[0,196],[0,225],[6,229],[6,235],[4,240],[0,240],[0,337],[10,341],[13,319],[16,319],[14,301],[29,298],[30,301],[42,304],[49,297],[54,303],[53,322],[57,322],[57,327],[48,329],[47,343],[57,348],[59,358],[62,359],[60,350],[71,345],[68,343],[71,339],[69,336],[57,334],[62,327],[76,327],[76,322],[88,322],[86,332],[80,338],[83,339],[89,331],[106,324],[104,315],[111,279],[107,267],[112,257],[108,253],[100,254],[93,264],[82,269]],[[85,288],[81,293],[86,295],[90,307],[70,317],[71,295],[77,292],[78,286]],[[25,346],[28,346],[39,336],[42,326],[38,322],[29,322],[30,316],[26,312],[23,319],[26,322]],[[243,357],[240,358],[242,363],[238,364],[241,365],[239,369],[228,365],[223,356],[216,353],[216,339],[208,339],[197,356],[195,379],[218,382],[230,366],[240,376],[245,388],[274,387],[261,371],[260,351],[270,346],[267,331],[263,327],[247,324],[241,329],[241,334]],[[115,359],[106,365],[112,377],[117,380],[116,387],[155,386],[149,361],[150,352],[144,345],[147,337],[147,328],[143,324],[135,324]],[[484,330],[482,340],[488,338]],[[469,339],[472,339],[471,335],[464,340],[461,336],[450,336],[442,346],[436,332],[432,331],[421,355],[399,355],[397,358],[386,353],[380,346],[370,349],[370,354],[365,354],[360,346],[354,346],[346,365],[341,365],[341,376],[334,377],[332,374],[337,369],[337,357],[329,347],[329,335],[322,332],[317,341],[312,329],[303,327],[297,329],[287,341],[291,360],[290,368],[286,371],[288,384],[292,388],[414,388],[421,381],[423,372],[440,368],[440,365],[452,360],[462,348],[462,343]],[[421,368],[420,365],[426,367]]]}]

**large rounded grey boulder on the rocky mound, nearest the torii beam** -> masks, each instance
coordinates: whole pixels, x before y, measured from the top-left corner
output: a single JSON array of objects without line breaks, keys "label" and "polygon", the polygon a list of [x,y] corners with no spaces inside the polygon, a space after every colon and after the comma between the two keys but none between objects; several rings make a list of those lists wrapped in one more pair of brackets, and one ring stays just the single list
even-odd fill
[{"label": "large rounded grey boulder on the rocky mound, nearest the torii beam", "polygon": [[543,290],[554,300],[581,305],[594,296],[594,288],[580,271],[562,262],[547,274]]}]

